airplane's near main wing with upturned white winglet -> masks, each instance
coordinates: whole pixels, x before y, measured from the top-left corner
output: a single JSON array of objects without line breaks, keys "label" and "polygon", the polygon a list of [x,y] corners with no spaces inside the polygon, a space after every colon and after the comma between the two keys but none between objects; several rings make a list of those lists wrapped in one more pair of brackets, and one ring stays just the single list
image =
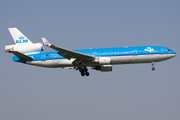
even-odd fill
[{"label": "airplane's near main wing with upturned white winglet", "polygon": [[56,47],[55,45],[50,44],[46,40],[46,38],[42,38],[42,41],[43,41],[44,45],[49,46],[50,48],[59,51],[58,54],[65,57],[68,60],[70,60],[71,58],[77,58],[80,60],[89,60],[89,59],[94,60],[95,59],[95,56],[92,56],[92,55],[75,52],[75,51],[68,50],[68,49],[61,48],[61,47]]}]

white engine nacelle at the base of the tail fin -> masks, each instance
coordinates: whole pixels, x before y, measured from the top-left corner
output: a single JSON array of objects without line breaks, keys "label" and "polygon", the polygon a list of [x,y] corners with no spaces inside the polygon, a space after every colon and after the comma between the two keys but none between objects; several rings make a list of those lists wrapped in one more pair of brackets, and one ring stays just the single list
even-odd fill
[{"label": "white engine nacelle at the base of the tail fin", "polygon": [[34,43],[34,44],[23,44],[23,45],[8,45],[5,46],[6,51],[18,51],[24,54],[29,53],[38,53],[44,50],[42,43]]}]

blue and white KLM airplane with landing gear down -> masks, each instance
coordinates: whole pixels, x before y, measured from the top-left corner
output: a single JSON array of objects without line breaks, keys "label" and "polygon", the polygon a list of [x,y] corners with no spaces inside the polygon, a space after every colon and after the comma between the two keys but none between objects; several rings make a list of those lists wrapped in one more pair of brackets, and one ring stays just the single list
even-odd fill
[{"label": "blue and white KLM airplane with landing gear down", "polygon": [[[113,65],[151,63],[155,70],[155,63],[176,56],[176,53],[167,47],[139,46],[69,50],[50,44],[46,38],[43,43],[32,43],[17,28],[8,28],[15,45],[5,46],[5,52],[13,53],[13,61],[47,68],[73,68],[81,76],[89,76],[87,67],[101,72],[112,71]],[[42,52],[44,46],[55,51]]]}]

